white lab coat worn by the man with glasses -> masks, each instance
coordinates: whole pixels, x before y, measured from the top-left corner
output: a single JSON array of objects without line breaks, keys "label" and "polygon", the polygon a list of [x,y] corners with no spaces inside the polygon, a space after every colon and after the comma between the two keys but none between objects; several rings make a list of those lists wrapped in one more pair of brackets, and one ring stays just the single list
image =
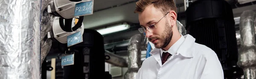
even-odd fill
[{"label": "white lab coat worn by the man with glasses", "polygon": [[195,43],[187,34],[185,40],[163,65],[160,49],[154,48],[143,61],[136,79],[224,79],[217,55],[205,45]]}]

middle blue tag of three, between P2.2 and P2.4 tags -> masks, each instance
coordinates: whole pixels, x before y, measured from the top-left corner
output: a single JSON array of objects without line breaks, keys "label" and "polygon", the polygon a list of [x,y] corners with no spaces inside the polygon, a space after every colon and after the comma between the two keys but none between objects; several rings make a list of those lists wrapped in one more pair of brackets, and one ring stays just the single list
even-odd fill
[{"label": "middle blue tag of three, between P2.2 and P2.4 tags", "polygon": [[81,31],[78,31],[74,34],[70,34],[69,36],[67,36],[67,47],[76,45],[80,42],[83,42],[83,35]]}]

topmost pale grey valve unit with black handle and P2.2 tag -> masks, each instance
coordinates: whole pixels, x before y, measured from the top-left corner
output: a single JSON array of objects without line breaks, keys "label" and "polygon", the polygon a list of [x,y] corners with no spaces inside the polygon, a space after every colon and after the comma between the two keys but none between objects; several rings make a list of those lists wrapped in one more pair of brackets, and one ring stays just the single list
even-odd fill
[{"label": "topmost pale grey valve unit with black handle and P2.2 tag", "polygon": [[[81,27],[84,16],[93,14],[93,0],[52,0],[47,7],[47,12],[60,17],[59,25],[63,31],[76,31]],[[74,27],[71,27],[74,17],[79,17],[79,20]]]}]

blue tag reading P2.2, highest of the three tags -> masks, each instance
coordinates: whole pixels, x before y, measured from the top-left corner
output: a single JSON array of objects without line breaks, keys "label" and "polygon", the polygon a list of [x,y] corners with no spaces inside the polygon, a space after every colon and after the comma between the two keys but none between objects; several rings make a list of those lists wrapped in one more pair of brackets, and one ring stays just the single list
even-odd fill
[{"label": "blue tag reading P2.2, highest of the three tags", "polygon": [[76,3],[75,6],[75,17],[93,14],[93,0]]}]

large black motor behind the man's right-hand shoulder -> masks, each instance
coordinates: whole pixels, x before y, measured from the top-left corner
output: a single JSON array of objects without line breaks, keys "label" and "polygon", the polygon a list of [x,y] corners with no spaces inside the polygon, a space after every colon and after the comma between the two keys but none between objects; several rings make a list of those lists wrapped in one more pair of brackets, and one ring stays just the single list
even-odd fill
[{"label": "large black motor behind the man's right-hand shoulder", "polygon": [[225,79],[241,78],[238,62],[235,22],[231,6],[225,0],[197,0],[186,9],[186,30],[195,42],[217,54]]}]

